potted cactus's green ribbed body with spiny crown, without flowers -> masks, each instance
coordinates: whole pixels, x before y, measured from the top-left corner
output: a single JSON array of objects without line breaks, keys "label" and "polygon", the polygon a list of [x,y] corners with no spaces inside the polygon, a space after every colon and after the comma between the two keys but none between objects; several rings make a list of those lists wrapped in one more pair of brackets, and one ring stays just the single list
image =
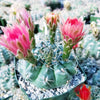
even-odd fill
[{"label": "potted cactus's green ribbed body with spiny crown, without flowers", "polygon": [[36,48],[33,52],[37,55],[37,65],[19,60],[18,71],[38,88],[51,89],[65,85],[76,74],[77,65],[75,60],[63,61],[61,48],[50,44]]}]

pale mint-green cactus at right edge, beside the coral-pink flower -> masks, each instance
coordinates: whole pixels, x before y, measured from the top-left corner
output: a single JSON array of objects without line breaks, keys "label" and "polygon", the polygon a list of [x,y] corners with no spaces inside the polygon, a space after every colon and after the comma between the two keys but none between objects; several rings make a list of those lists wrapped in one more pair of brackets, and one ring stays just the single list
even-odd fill
[{"label": "pale mint-green cactus at right edge, beside the coral-pink flower", "polygon": [[89,56],[100,59],[100,40],[96,40],[93,34],[86,35],[81,44]]}]

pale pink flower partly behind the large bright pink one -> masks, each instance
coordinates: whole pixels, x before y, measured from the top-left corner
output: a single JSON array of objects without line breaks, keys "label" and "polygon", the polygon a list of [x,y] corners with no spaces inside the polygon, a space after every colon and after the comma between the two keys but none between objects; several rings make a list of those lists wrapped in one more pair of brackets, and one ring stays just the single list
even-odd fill
[{"label": "pale pink flower partly behind the large bright pink one", "polygon": [[24,24],[33,32],[34,25],[33,25],[32,17],[29,14],[29,12],[26,11],[26,9],[24,8],[20,9],[16,14],[16,19],[19,23],[23,21]]}]

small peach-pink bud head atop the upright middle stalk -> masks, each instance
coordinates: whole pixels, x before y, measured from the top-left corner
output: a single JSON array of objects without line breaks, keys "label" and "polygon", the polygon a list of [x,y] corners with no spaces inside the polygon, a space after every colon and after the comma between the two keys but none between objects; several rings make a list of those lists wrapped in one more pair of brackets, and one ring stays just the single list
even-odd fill
[{"label": "small peach-pink bud head atop the upright middle stalk", "polygon": [[49,28],[52,28],[54,27],[57,27],[57,22],[59,21],[59,16],[58,14],[55,14],[55,13],[48,13],[46,16],[45,16],[45,20],[46,20],[46,23],[47,25],[49,26]]}]

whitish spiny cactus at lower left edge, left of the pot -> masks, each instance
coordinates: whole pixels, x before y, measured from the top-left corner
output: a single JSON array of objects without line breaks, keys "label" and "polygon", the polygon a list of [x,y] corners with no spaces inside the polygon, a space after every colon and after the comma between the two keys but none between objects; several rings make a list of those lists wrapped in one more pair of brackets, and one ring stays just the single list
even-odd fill
[{"label": "whitish spiny cactus at lower left edge, left of the pot", "polygon": [[14,63],[11,62],[0,69],[0,88],[4,91],[18,87],[14,67]]}]

